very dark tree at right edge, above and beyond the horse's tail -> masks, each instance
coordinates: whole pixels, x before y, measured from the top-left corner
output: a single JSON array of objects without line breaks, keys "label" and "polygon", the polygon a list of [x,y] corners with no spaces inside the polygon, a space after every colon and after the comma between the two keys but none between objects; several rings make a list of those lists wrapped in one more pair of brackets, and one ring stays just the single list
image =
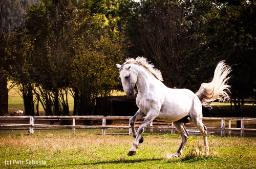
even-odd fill
[{"label": "very dark tree at right edge, above and beyond the horse's tail", "polygon": [[[236,114],[241,116],[240,104],[244,98],[255,96],[255,54],[256,54],[256,2],[236,1],[219,4],[208,15],[205,36],[201,45],[204,57],[226,60],[232,65],[231,97]],[[208,61],[206,61],[208,62]]]}]

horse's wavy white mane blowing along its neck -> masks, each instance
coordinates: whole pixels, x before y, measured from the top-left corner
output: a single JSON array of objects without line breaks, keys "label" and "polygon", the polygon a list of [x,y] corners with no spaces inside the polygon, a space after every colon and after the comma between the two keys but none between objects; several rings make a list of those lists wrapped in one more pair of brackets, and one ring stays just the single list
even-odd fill
[{"label": "horse's wavy white mane blowing along its neck", "polygon": [[138,57],[136,59],[128,58],[125,61],[126,62],[123,65],[125,65],[125,64],[137,64],[137,65],[140,65],[140,66],[144,67],[146,70],[148,70],[149,72],[151,72],[158,80],[163,81],[163,77],[162,77],[161,71],[156,69],[153,64],[150,64],[146,60],[146,58],[143,58],[143,57]]}]

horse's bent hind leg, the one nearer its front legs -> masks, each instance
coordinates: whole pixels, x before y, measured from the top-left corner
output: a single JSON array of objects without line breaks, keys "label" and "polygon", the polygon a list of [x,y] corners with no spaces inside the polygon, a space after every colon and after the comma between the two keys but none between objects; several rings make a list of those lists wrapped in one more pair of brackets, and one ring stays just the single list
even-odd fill
[{"label": "horse's bent hind leg, the one nearer its front legs", "polygon": [[181,121],[176,121],[173,122],[177,131],[180,133],[182,141],[181,141],[181,145],[178,149],[178,151],[173,155],[173,157],[180,157],[182,150],[187,142],[187,138],[188,138],[188,132],[185,129],[184,123],[182,123]]}]

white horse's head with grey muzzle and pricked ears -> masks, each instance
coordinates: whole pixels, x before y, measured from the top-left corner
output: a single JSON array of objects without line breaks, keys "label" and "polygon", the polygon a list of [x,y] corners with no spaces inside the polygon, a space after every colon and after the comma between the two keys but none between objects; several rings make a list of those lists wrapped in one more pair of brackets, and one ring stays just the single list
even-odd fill
[{"label": "white horse's head with grey muzzle and pricked ears", "polygon": [[133,64],[116,65],[119,68],[119,74],[125,94],[132,97],[134,95],[134,87],[137,82],[138,75],[133,70]]}]

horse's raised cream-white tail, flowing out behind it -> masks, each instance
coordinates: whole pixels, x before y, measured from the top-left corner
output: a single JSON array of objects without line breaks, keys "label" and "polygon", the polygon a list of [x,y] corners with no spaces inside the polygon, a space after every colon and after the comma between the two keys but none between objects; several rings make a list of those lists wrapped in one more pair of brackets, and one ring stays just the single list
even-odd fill
[{"label": "horse's raised cream-white tail, flowing out behind it", "polygon": [[215,100],[229,101],[227,92],[230,93],[230,86],[227,85],[231,68],[224,61],[221,61],[214,72],[214,78],[209,83],[202,83],[200,89],[196,93],[204,107],[210,107],[210,103]]}]

